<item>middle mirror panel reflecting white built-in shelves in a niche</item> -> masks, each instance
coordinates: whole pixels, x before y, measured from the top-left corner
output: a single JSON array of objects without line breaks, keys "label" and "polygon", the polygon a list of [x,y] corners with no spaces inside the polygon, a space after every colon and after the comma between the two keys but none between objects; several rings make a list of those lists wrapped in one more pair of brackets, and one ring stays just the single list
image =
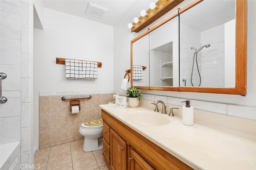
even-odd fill
[{"label": "middle mirror panel reflecting white built-in shelves in a niche", "polygon": [[149,33],[150,86],[178,87],[178,17]]}]

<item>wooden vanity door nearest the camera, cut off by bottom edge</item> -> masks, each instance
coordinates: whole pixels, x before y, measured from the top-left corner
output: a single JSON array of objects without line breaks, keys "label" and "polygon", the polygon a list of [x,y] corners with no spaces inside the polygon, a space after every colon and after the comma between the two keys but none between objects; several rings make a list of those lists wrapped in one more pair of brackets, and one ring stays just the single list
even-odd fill
[{"label": "wooden vanity door nearest the camera, cut off by bottom edge", "polygon": [[135,150],[131,149],[130,157],[131,170],[154,170],[148,162],[146,162]]}]

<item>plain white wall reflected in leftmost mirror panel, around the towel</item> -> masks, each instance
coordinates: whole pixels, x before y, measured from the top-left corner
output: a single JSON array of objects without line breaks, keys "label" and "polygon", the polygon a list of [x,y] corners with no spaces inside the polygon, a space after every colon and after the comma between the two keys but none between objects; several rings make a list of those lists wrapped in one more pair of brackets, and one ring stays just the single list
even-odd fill
[{"label": "plain white wall reflected in leftmost mirror panel, around the towel", "polygon": [[149,86],[149,35],[146,35],[132,44],[133,65],[145,66],[143,79],[134,79],[133,86]]}]

